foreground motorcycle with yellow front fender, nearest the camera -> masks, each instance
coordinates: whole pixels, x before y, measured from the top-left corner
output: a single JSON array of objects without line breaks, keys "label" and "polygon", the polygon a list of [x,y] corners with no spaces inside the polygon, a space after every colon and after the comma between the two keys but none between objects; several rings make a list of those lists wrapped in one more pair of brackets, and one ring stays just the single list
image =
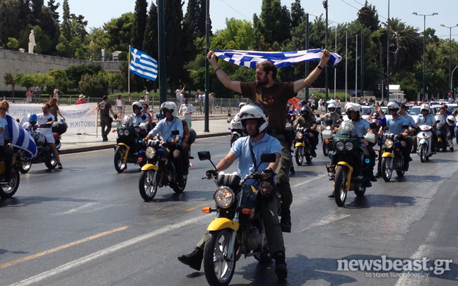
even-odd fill
[{"label": "foreground motorcycle with yellow front fender, nearest the camera", "polygon": [[[211,161],[209,151],[199,151],[199,160]],[[275,161],[275,154],[262,154],[262,162]],[[260,164],[259,164],[260,165]],[[213,198],[216,209],[205,207],[202,212],[216,212],[216,219],[207,227],[204,247],[204,272],[207,282],[212,286],[228,285],[235,272],[235,263],[242,254],[254,256],[257,261],[266,263],[272,257],[267,245],[261,213],[257,211],[258,190],[245,184],[249,179],[261,180],[263,173],[257,168],[245,178],[238,173],[218,173],[214,178],[218,189]]]}]

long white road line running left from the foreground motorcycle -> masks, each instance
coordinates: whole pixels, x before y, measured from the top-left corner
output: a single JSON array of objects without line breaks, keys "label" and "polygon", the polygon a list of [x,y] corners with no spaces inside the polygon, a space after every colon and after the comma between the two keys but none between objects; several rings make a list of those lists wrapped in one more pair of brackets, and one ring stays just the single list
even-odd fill
[{"label": "long white road line running left from the foreground motorcycle", "polygon": [[93,260],[95,260],[97,258],[100,258],[102,256],[105,256],[107,254],[119,251],[120,249],[126,248],[127,246],[131,246],[133,244],[137,244],[140,241],[143,241],[145,239],[150,239],[151,237],[156,236],[158,234],[163,234],[166,231],[170,231],[172,229],[178,229],[180,227],[184,227],[187,224],[192,224],[193,222],[196,222],[199,219],[202,219],[202,216],[201,217],[194,217],[193,219],[188,219],[188,220],[186,220],[184,222],[179,222],[177,224],[172,224],[171,226],[168,226],[168,227],[163,227],[162,229],[157,229],[155,231],[151,231],[148,234],[143,234],[141,236],[137,236],[134,239],[129,239],[128,241],[124,241],[124,242],[122,242],[120,244],[116,244],[116,245],[111,246],[109,248],[102,249],[101,251],[92,253],[92,254],[90,254],[88,256],[84,256],[82,258],[77,259],[76,261],[71,261],[69,263],[66,263],[64,265],[59,266],[58,268],[54,268],[52,270],[45,271],[44,273],[35,275],[35,276],[31,277],[31,278],[27,278],[27,279],[22,280],[20,282],[14,283],[14,284],[12,284],[10,286],[31,285],[31,284],[33,284],[35,282],[39,282],[39,281],[44,280],[46,278],[49,278],[49,277],[51,277],[53,275],[57,275],[59,273],[63,273],[66,270],[70,270],[71,268],[77,267],[77,266],[82,265],[84,263],[87,263],[89,261],[93,261]]}]

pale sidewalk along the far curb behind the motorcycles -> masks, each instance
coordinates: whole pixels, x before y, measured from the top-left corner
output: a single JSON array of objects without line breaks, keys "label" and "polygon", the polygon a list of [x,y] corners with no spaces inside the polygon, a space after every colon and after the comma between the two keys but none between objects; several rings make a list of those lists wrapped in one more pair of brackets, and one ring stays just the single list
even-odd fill
[{"label": "pale sidewalk along the far curb behind the motorcycles", "polygon": [[[194,116],[193,116],[194,117]],[[224,119],[222,119],[224,118]],[[204,132],[204,117],[195,116],[192,120],[192,129],[197,133],[197,138],[215,137],[229,135],[229,123],[226,121],[227,116],[221,115],[209,119],[209,132]],[[110,132],[108,141],[103,142],[98,127],[98,137],[96,135],[72,135],[64,133],[61,137],[60,154],[71,154],[84,151],[93,151],[100,149],[112,149],[116,144],[116,132]]]}]

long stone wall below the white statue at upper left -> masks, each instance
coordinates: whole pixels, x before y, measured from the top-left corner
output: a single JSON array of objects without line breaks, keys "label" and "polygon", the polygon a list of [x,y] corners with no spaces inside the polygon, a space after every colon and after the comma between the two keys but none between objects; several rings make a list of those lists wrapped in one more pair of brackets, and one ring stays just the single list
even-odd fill
[{"label": "long stone wall below the white statue at upper left", "polygon": [[[52,69],[66,69],[79,64],[99,64],[110,72],[119,72],[120,62],[91,62],[83,59],[69,59],[47,55],[29,54],[11,50],[0,50],[0,91],[11,91],[11,86],[6,86],[3,76],[10,72],[16,74],[46,74]],[[16,86],[17,91],[27,91],[25,87]]]}]

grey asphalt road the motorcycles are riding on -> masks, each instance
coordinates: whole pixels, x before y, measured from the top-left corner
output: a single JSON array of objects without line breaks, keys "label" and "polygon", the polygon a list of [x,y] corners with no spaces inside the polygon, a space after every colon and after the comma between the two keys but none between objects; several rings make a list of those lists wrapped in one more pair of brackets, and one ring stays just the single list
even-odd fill
[{"label": "grey asphalt road the motorcycles are riding on", "polygon": [[[197,139],[193,154],[210,150],[216,164],[228,142]],[[113,154],[67,154],[62,171],[41,164],[21,175],[18,193],[0,200],[1,285],[207,285],[203,270],[177,256],[192,251],[214,217],[201,212],[214,205],[215,185],[201,179],[209,162],[192,161],[184,193],[161,188],[143,202],[138,166],[118,174]],[[456,285],[457,157],[440,153],[422,164],[413,155],[404,178],[379,179],[363,198],[348,193],[345,207],[327,198],[329,159],[319,153],[295,166],[293,231],[284,234],[288,279],[276,280],[274,263],[241,258],[230,285]],[[382,259],[406,270],[357,266]],[[426,270],[407,270],[423,261]],[[441,267],[450,270],[438,274]]]}]

